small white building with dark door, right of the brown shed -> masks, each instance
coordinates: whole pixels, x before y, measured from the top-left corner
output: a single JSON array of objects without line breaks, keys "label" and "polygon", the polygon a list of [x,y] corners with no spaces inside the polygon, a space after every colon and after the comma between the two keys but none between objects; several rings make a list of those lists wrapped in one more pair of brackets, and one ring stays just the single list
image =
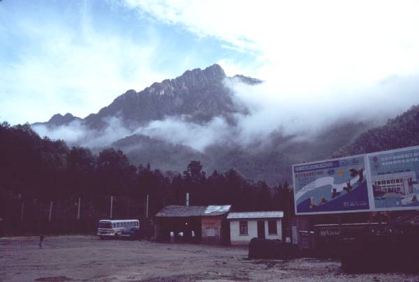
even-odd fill
[{"label": "small white building with dark door, right of the brown shed", "polygon": [[284,212],[230,212],[230,242],[249,244],[253,238],[282,240]]}]

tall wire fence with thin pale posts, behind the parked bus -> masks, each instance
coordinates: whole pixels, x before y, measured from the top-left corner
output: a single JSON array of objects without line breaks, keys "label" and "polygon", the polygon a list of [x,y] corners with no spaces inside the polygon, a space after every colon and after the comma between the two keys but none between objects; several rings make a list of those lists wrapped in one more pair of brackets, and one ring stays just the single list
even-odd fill
[{"label": "tall wire fence with thin pale posts, behind the parked bus", "polygon": [[0,236],[94,234],[100,219],[140,219],[146,222],[145,198],[86,196],[45,201],[0,192]]}]

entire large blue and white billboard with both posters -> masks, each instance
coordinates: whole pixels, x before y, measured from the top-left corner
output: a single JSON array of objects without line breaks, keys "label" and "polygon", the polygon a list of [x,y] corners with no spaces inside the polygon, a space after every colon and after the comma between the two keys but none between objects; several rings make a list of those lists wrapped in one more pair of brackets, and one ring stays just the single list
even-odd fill
[{"label": "entire large blue and white billboard with both posters", "polygon": [[419,209],[419,146],[292,169],[295,214]]}]

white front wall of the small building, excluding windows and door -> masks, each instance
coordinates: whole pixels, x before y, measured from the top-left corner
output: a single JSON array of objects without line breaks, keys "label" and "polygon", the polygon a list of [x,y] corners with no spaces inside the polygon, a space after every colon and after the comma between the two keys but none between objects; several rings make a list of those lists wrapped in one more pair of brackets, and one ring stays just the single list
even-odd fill
[{"label": "white front wall of the small building, excluding windows and door", "polygon": [[[282,224],[281,219],[272,219],[277,221],[277,233],[268,233],[267,221],[271,219],[242,219],[230,220],[230,242],[232,245],[249,244],[250,240],[258,237],[258,221],[265,221],[265,239],[282,240]],[[247,235],[240,235],[240,221],[247,221]]]}]

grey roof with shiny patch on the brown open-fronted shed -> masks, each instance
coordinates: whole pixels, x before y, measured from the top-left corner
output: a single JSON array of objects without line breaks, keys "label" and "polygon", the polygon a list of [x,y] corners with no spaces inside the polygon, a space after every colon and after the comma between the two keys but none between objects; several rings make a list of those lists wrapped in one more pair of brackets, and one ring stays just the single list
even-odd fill
[{"label": "grey roof with shiny patch on the brown open-fronted shed", "polygon": [[168,205],[156,217],[209,217],[226,214],[231,205]]}]

